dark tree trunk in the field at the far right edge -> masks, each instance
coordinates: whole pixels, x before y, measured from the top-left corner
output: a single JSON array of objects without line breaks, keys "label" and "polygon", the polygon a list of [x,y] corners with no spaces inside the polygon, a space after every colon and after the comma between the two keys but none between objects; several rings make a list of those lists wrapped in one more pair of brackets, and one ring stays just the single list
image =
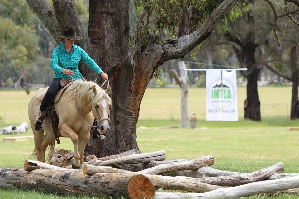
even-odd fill
[{"label": "dark tree trunk in the field at the far right edge", "polygon": [[291,64],[292,64],[292,77],[293,77],[291,119],[295,120],[299,118],[299,99],[298,99],[299,70],[297,67],[297,46],[292,48]]}]

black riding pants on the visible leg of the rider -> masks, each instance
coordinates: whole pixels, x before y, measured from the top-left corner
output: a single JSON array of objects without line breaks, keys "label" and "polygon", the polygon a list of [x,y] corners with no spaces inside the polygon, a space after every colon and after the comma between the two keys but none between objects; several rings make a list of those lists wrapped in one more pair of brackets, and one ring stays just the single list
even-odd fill
[{"label": "black riding pants on the visible leg of the rider", "polygon": [[49,86],[44,99],[41,101],[40,104],[40,111],[44,112],[48,106],[50,105],[50,103],[52,102],[52,100],[54,99],[54,97],[56,96],[56,93],[60,90],[61,85],[60,85],[60,78],[55,78],[53,80],[53,82],[51,83],[51,85]]}]

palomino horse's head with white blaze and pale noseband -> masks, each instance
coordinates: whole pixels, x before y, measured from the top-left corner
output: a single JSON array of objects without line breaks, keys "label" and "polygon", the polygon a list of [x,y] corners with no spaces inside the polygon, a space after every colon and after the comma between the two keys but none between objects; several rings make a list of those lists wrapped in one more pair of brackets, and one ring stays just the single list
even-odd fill
[{"label": "palomino horse's head with white blaze and pale noseband", "polygon": [[93,116],[99,122],[99,127],[103,135],[109,131],[109,110],[111,107],[111,99],[108,96],[111,88],[108,86],[106,90],[97,89],[93,86],[94,100],[92,104]]}]

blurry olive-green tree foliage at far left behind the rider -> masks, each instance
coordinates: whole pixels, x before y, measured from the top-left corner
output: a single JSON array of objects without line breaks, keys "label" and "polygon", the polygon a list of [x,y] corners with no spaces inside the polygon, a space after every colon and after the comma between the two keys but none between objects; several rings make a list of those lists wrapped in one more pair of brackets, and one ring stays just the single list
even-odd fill
[{"label": "blurry olive-green tree foliage at far left behind the rider", "polygon": [[34,14],[21,0],[0,1],[0,87],[19,78],[19,71],[35,58],[38,45],[33,26]]}]

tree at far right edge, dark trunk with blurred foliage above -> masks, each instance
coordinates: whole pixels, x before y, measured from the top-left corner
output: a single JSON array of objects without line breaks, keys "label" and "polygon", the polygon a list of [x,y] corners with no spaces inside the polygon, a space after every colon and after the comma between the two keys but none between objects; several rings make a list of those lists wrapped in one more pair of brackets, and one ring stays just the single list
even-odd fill
[{"label": "tree at far right edge, dark trunk with blurred foliage above", "polygon": [[[298,26],[299,26],[299,1],[270,1],[264,0],[272,9],[273,35],[276,38],[277,49],[284,54],[282,59],[273,59],[272,65],[265,64],[274,73],[292,81],[291,119],[299,118],[299,66],[298,66]],[[283,3],[283,4],[282,4]],[[283,5],[283,6],[282,6]]]}]

